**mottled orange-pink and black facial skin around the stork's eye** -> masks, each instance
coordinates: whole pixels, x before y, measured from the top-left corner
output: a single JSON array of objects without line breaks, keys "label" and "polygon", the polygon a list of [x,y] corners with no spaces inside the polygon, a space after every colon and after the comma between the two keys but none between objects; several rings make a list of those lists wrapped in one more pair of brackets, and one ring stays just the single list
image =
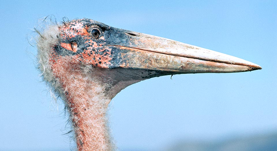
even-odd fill
[{"label": "mottled orange-pink and black facial skin around the stork's eye", "polygon": [[[86,24],[85,24],[86,23]],[[104,36],[95,39],[90,36],[89,30],[97,25],[91,25],[89,20],[76,20],[61,26],[61,45],[55,47],[57,56],[53,55],[53,61],[60,55],[75,56],[75,59],[101,68],[111,66],[111,50],[103,47],[105,44]],[[104,30],[106,28],[103,28]],[[72,50],[72,43],[77,44],[77,48]],[[63,49],[64,48],[64,49]],[[65,49],[69,50],[66,51]]]}]

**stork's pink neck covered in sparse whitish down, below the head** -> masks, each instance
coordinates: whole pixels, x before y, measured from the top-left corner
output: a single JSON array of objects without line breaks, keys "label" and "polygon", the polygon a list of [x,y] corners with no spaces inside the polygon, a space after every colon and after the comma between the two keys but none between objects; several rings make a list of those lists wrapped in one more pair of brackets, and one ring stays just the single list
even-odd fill
[{"label": "stork's pink neck covered in sparse whitish down, below the head", "polygon": [[105,85],[70,62],[57,62],[53,71],[69,107],[78,150],[113,150],[105,115],[111,99],[103,93]]}]

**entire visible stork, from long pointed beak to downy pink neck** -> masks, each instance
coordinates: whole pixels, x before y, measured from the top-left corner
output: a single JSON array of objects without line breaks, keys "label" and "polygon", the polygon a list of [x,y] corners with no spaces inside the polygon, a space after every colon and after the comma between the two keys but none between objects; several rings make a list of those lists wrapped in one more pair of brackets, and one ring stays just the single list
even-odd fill
[{"label": "entire visible stork, from long pointed beak to downy pink neck", "polygon": [[90,19],[63,22],[56,30],[52,35],[47,33],[51,30],[44,31],[38,40],[38,55],[46,58],[40,69],[65,99],[80,151],[116,149],[106,126],[106,110],[128,85],[171,74],[261,69],[216,51]]}]

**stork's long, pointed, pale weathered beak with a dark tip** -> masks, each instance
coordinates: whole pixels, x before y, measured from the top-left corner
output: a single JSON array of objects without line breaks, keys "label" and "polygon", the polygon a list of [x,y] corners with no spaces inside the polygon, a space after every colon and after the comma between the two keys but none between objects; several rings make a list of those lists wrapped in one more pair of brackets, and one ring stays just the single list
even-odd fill
[{"label": "stork's long, pointed, pale weathered beak with a dark tip", "polygon": [[[252,62],[209,49],[152,35],[120,30],[114,68],[158,70],[170,73],[228,73],[261,69]],[[123,42],[122,42],[123,41]],[[119,59],[120,58],[120,59]]]}]

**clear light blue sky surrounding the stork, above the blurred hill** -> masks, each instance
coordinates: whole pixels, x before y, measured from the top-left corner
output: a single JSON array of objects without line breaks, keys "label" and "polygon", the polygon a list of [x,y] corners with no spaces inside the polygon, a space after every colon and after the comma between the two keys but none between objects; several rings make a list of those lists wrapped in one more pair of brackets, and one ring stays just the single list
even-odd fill
[{"label": "clear light blue sky surrounding the stork, above the blurred hill", "polygon": [[62,135],[68,131],[63,104],[51,101],[35,69],[36,49],[27,41],[38,20],[48,15],[57,21],[91,18],[263,67],[165,76],[127,87],[109,110],[120,150],[162,150],[180,139],[276,133],[276,14],[276,1],[2,1],[0,150],[70,150],[72,139]]}]

